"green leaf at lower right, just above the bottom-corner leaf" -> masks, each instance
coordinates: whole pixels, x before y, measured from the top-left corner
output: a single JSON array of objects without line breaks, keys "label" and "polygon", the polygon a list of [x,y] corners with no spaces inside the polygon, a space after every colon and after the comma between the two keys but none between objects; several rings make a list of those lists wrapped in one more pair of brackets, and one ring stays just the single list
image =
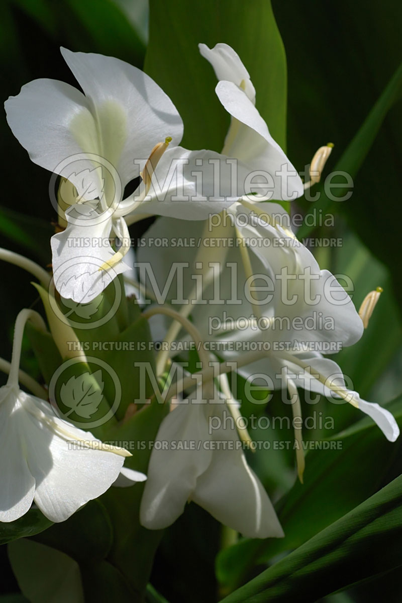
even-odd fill
[{"label": "green leaf at lower right, just above the bottom-corner leaf", "polygon": [[[387,408],[402,426],[402,396]],[[224,590],[242,584],[257,564],[302,545],[402,472],[400,441],[387,441],[367,417],[327,441],[327,446],[332,448],[306,455],[304,484],[295,482],[277,505],[284,538],[242,538],[221,551],[216,569]]]}]

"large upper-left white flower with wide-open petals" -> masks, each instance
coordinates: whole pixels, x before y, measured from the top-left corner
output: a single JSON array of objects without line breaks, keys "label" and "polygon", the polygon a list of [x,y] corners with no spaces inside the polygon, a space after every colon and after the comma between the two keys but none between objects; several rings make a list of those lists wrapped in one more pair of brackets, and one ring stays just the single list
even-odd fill
[{"label": "large upper-left white flower with wide-open petals", "polygon": [[[153,213],[206,218],[232,203],[238,191],[232,191],[227,157],[178,147],[180,115],[148,75],[113,57],[64,48],[61,54],[84,94],[61,81],[34,80],[10,97],[5,109],[14,136],[33,162],[68,178],[77,189],[77,196],[66,200],[73,203],[66,212],[66,231],[52,238],[52,263],[63,297],[87,303],[128,269],[122,262],[130,247],[124,216],[134,213],[130,221]],[[215,165],[209,159],[222,168],[218,200]],[[169,172],[175,166],[181,166],[180,173]],[[247,169],[241,169],[245,176]],[[198,177],[203,172],[202,195],[194,170]],[[123,200],[125,185],[139,173],[140,192]],[[177,195],[180,200],[174,202]],[[122,239],[116,253],[108,243],[115,236]]]}]

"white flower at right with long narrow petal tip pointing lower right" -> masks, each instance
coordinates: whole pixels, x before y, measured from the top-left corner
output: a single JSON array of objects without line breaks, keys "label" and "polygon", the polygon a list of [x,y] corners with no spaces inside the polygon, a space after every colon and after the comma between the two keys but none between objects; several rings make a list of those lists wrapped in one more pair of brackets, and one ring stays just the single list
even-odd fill
[{"label": "white flower at right with long narrow petal tip pointing lower right", "polygon": [[[250,215],[252,210],[255,210],[254,216]],[[219,250],[220,261],[211,262],[212,268],[209,271],[212,277],[206,279],[206,288],[201,295],[201,287],[198,287],[198,297],[192,295],[194,275],[202,272],[205,276],[208,271],[205,267],[198,266],[199,270],[195,268],[197,251],[193,247],[187,248],[186,259],[189,262],[193,260],[193,268],[191,274],[183,273],[184,296],[189,297],[190,303],[181,308],[180,314],[191,314],[201,338],[212,341],[213,349],[228,360],[235,361],[242,355],[242,344],[263,344],[266,352],[262,353],[265,358],[241,368],[239,372],[245,377],[252,374],[266,376],[266,379],[262,377],[261,385],[268,390],[288,388],[295,400],[292,405],[295,414],[301,415],[297,387],[303,387],[327,397],[350,402],[371,416],[386,437],[394,441],[399,429],[391,413],[375,403],[365,402],[356,391],[348,390],[341,368],[317,351],[334,353],[340,346],[353,345],[363,334],[363,321],[345,289],[333,274],[319,269],[310,251],[297,241],[287,226],[281,226],[281,216],[286,218],[287,215],[277,204],[253,205],[243,202],[234,204],[228,212],[240,212],[242,216],[247,216],[249,212],[244,225],[237,227],[236,233],[234,228],[231,232],[232,237],[237,234],[239,244],[243,239],[261,244],[250,248],[240,245],[243,255],[240,258],[240,251],[226,241],[224,250],[229,250],[227,261],[225,262],[224,250]],[[161,221],[164,221],[165,237],[169,233],[172,238],[177,236],[180,231],[177,220],[162,218]],[[149,229],[146,236],[149,236],[150,241],[162,236],[160,227],[157,221]],[[225,229],[225,234],[228,232]],[[186,234],[189,238],[194,236],[196,240],[196,233],[189,227]],[[213,234],[212,230],[212,238]],[[269,244],[266,244],[267,241]],[[169,250],[165,248],[163,259],[155,264],[152,262],[152,253],[150,254],[153,249],[147,248],[147,259],[151,261],[155,282],[162,291],[166,275],[174,262],[183,260],[179,256],[182,250],[177,247],[170,247]],[[212,247],[212,251],[215,248]],[[140,249],[139,259],[142,253]],[[236,268],[236,276],[230,265]],[[263,279],[263,282],[259,279]],[[253,291],[250,283],[254,286]],[[262,285],[260,292],[257,291],[259,285]],[[171,300],[177,294],[176,286],[177,283],[172,281],[169,291]],[[377,297],[378,295],[377,293]],[[165,340],[169,342],[172,341],[172,332],[174,337],[180,332],[180,325],[174,331],[172,326],[165,336]],[[161,367],[162,365],[163,363]],[[298,455],[300,476],[303,473],[301,455],[302,450]]]}]

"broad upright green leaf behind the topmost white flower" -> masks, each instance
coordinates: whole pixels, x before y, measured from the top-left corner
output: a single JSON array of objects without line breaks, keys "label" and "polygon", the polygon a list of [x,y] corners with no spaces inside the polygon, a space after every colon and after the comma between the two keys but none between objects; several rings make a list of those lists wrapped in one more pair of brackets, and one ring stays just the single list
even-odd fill
[{"label": "broad upright green leaf behind the topmost white flower", "polygon": [[[229,118],[215,95],[212,66],[198,52],[232,46],[257,90],[257,109],[272,136],[286,144],[286,58],[271,2],[151,0],[145,71],[165,90],[184,121],[183,145],[221,151]],[[166,135],[169,133],[166,132]]]}]

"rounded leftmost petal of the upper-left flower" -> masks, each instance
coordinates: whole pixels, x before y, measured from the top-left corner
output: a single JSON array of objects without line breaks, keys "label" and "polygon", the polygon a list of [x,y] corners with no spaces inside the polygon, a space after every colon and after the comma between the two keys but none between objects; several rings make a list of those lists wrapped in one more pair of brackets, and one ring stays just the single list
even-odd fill
[{"label": "rounded leftmost petal of the upper-left flower", "polygon": [[[99,154],[96,126],[80,90],[57,80],[34,80],[5,102],[8,125],[31,160],[42,168],[70,178],[72,172],[93,169],[89,160],[69,165],[69,157],[83,151]],[[71,124],[80,122],[80,141]],[[85,147],[85,148],[84,148]]]}]

